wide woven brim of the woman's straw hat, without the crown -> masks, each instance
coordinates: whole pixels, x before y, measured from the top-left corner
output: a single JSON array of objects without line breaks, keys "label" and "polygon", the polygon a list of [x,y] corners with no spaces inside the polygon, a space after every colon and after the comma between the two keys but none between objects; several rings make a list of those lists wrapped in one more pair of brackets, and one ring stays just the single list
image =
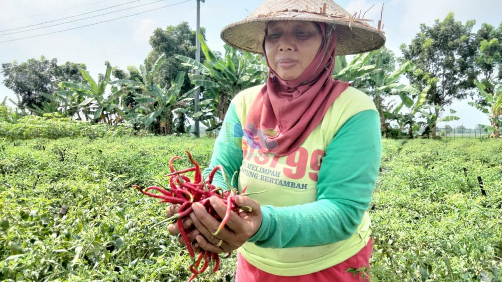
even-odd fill
[{"label": "wide woven brim of the woman's straw hat, without the crown", "polygon": [[359,19],[342,19],[305,13],[275,13],[273,17],[242,20],[230,24],[221,31],[221,39],[228,45],[263,54],[262,42],[265,25],[269,21],[311,21],[334,25],[337,37],[336,55],[369,52],[385,44],[385,36]]}]

